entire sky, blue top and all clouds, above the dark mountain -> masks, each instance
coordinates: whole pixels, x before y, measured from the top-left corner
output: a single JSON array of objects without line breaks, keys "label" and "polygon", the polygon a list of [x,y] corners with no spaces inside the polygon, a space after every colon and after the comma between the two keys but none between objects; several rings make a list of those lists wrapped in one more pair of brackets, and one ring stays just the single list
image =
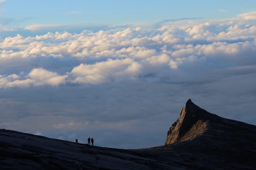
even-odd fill
[{"label": "entire sky, blue top and all clouds, above the dark mountain", "polygon": [[254,1],[0,0],[0,128],[164,145],[191,98],[256,122]]}]

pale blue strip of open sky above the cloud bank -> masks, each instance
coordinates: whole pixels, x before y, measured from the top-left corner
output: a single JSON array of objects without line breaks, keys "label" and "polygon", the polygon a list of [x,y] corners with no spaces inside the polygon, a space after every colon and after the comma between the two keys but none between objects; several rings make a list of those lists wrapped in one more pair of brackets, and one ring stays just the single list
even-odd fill
[{"label": "pale blue strip of open sky above the cloud bank", "polygon": [[6,28],[21,28],[32,24],[119,25],[148,24],[180,18],[203,18],[204,20],[232,18],[255,10],[255,1],[8,0],[2,9],[4,12],[1,18],[7,20],[4,24]]}]

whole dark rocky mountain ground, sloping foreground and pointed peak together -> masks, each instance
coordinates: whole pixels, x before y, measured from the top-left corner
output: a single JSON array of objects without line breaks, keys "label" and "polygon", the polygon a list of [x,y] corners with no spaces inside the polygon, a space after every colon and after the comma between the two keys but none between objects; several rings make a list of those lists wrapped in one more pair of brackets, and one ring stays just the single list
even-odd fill
[{"label": "whole dark rocky mountain ground, sloping foreground and pointed peak together", "polygon": [[190,99],[166,145],[114,149],[0,129],[0,169],[255,169],[256,126],[211,114]]}]

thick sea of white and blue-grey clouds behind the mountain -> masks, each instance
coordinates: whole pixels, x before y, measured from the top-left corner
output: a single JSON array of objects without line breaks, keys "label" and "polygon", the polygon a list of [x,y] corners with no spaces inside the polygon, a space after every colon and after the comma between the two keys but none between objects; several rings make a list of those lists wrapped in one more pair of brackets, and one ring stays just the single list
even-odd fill
[{"label": "thick sea of white and blue-grey clouds behind the mountain", "polygon": [[[188,98],[255,124],[256,12],[159,28],[6,37],[0,127],[114,148],[163,145]],[[36,25],[25,29],[36,29]]]}]

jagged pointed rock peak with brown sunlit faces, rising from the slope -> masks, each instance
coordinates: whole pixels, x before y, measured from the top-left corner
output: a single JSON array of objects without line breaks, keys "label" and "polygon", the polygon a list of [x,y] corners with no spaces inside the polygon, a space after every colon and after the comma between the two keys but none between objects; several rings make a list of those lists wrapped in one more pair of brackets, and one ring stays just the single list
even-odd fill
[{"label": "jagged pointed rock peak with brown sunlit faces, rising from the slope", "polygon": [[167,132],[165,145],[198,136],[207,130],[207,123],[219,120],[219,116],[201,109],[189,99],[180,112],[180,118]]}]

